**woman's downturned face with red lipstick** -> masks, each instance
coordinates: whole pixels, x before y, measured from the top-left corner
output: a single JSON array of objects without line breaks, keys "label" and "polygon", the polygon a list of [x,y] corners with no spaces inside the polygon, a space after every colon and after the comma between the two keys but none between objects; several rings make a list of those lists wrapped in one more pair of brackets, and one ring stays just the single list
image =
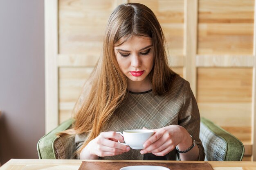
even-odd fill
[{"label": "woman's downturned face with red lipstick", "polygon": [[128,77],[128,85],[148,83],[148,74],[154,65],[152,38],[132,36],[114,47],[121,71]]}]

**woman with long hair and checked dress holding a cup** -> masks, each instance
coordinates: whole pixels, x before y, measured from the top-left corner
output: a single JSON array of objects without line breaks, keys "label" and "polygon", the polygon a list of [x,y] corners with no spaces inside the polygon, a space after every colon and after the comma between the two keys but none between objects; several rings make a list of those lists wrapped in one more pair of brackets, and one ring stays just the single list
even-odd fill
[{"label": "woman with long hair and checked dress holding a cup", "polygon": [[[189,83],[168,67],[164,35],[145,5],[119,5],[103,53],[74,109],[79,159],[204,160],[200,115]],[[116,131],[154,129],[133,150]],[[176,147],[177,146],[177,147]]]}]

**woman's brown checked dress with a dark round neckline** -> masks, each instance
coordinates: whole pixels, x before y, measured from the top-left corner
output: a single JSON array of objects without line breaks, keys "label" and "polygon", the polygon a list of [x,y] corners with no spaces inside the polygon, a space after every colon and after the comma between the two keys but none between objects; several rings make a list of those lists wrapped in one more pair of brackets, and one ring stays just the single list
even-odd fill
[{"label": "woman's brown checked dress with a dark round neckline", "polygon": [[[183,126],[195,139],[200,150],[199,160],[204,160],[204,149],[199,139],[200,115],[190,85],[175,74],[171,90],[163,96],[154,96],[150,91],[130,92],[101,131],[124,131],[128,129],[159,129],[169,125]],[[76,135],[77,148],[82,145],[86,135]],[[167,160],[176,160],[176,149],[166,155]],[[157,156],[147,156],[157,160]],[[140,150],[133,150],[121,155],[101,157],[100,159],[143,160]]]}]

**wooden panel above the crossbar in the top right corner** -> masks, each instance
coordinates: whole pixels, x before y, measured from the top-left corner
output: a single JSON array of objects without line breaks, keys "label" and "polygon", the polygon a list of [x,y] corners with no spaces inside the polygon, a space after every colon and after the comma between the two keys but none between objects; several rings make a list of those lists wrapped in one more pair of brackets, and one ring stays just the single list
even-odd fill
[{"label": "wooden panel above the crossbar in the top right corner", "polygon": [[254,0],[199,0],[198,54],[252,54]]}]

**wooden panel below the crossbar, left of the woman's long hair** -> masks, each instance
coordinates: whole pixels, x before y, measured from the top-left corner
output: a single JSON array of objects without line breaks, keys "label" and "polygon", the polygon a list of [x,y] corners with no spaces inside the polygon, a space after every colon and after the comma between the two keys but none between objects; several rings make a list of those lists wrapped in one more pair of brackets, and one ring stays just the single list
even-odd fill
[{"label": "wooden panel below the crossbar, left of the woman's long hair", "polygon": [[59,122],[71,117],[72,109],[78,99],[85,80],[93,68],[59,69]]}]

